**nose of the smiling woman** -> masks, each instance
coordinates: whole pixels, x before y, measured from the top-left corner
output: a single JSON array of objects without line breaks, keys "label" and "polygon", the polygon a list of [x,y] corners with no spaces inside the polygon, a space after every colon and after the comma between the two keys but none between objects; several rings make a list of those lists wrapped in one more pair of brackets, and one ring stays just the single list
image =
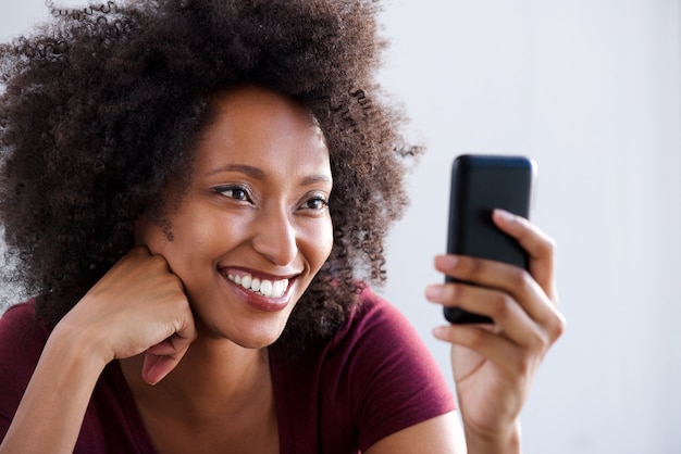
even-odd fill
[{"label": "nose of the smiling woman", "polygon": [[280,206],[263,210],[258,216],[251,243],[259,254],[275,265],[290,264],[298,254],[298,244],[289,213]]}]

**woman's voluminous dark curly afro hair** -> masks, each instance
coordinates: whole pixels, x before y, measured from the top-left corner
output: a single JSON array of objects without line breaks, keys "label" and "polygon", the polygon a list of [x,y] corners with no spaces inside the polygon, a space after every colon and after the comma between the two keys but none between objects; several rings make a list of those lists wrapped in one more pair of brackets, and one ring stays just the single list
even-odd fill
[{"label": "woman's voluminous dark curly afro hair", "polygon": [[163,189],[188,184],[210,99],[258,84],[325,134],[334,247],[282,342],[326,337],[385,279],[407,204],[405,117],[375,80],[385,40],[369,0],[131,0],[60,10],[0,46],[0,228],[5,276],[54,326],[133,247]]}]

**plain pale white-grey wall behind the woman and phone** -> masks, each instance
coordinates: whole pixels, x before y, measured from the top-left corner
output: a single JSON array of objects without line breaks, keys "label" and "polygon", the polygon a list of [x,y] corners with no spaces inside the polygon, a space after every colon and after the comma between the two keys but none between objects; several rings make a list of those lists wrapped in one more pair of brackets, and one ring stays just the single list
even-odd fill
[{"label": "plain pale white-grey wall behind the woman and phone", "polygon": [[[0,38],[46,17],[0,0]],[[72,4],[72,3],[70,3]],[[75,3],[78,4],[78,3]],[[558,242],[568,330],[523,413],[525,454],[681,452],[681,133],[678,0],[394,0],[382,80],[429,153],[391,237],[383,293],[432,340],[449,166],[527,154],[533,219]]]}]

